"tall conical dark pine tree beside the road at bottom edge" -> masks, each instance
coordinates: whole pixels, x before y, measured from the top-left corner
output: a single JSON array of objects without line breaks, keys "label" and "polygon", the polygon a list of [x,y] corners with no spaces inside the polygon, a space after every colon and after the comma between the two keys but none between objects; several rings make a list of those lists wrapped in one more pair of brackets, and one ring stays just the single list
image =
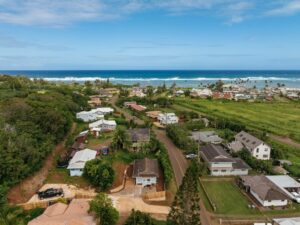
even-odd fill
[{"label": "tall conical dark pine tree beside the road at bottom edge", "polygon": [[199,175],[202,174],[197,161],[192,161],[175,196],[168,215],[168,225],[200,225]]}]

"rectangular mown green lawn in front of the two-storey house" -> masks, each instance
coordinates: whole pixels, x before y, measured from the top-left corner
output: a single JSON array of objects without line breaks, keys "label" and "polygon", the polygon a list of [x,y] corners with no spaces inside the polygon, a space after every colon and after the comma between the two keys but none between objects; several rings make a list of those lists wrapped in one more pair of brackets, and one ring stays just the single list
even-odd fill
[{"label": "rectangular mown green lawn in front of the two-storey house", "polygon": [[[251,216],[259,214],[257,209],[250,209],[248,207],[251,203],[233,181],[202,181],[202,183],[209,198],[216,206],[215,213],[226,214],[228,216]],[[205,203],[205,205],[207,204]]]}]

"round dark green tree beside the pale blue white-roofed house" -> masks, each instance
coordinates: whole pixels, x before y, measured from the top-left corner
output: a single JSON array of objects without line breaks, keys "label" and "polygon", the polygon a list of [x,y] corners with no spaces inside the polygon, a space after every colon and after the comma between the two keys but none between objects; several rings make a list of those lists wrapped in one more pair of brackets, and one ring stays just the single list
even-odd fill
[{"label": "round dark green tree beside the pale blue white-roofed house", "polygon": [[107,190],[113,184],[115,172],[111,165],[96,158],[85,164],[84,176],[96,187]]}]

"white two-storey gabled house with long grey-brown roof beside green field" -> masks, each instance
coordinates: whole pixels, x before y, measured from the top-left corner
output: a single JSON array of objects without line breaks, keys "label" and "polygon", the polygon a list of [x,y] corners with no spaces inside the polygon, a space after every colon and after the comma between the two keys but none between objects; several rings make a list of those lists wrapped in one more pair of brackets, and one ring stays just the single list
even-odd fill
[{"label": "white two-storey gabled house with long grey-brown roof beside green field", "polygon": [[241,131],[235,135],[235,140],[241,142],[253,157],[261,160],[270,159],[271,147],[253,135]]}]

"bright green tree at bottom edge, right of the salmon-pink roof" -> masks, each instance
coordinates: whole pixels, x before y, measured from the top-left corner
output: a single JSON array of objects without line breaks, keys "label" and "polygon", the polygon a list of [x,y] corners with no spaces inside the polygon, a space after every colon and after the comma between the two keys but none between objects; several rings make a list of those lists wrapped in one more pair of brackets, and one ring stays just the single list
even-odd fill
[{"label": "bright green tree at bottom edge, right of the salmon-pink roof", "polygon": [[113,207],[112,200],[105,193],[99,193],[90,202],[89,212],[95,213],[99,225],[114,225],[119,219],[118,211]]}]

